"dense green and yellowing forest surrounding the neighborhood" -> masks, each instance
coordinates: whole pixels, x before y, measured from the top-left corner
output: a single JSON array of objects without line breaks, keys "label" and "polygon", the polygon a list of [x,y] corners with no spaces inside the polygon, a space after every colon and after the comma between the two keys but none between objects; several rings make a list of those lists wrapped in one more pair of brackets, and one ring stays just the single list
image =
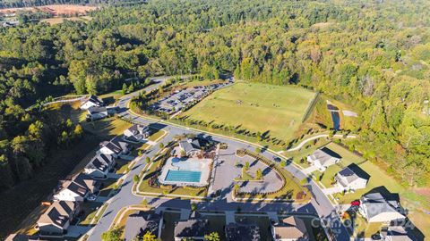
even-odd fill
[{"label": "dense green and yellowing forest surrounding the neighborhood", "polygon": [[[102,8],[88,23],[1,29],[0,185],[25,179],[43,160],[16,147],[44,120],[43,112],[24,111],[30,104],[105,93],[134,73],[219,72],[353,104],[361,112],[354,148],[405,185],[430,185],[428,7],[425,0],[154,0]],[[17,168],[23,160],[27,172]]]}]

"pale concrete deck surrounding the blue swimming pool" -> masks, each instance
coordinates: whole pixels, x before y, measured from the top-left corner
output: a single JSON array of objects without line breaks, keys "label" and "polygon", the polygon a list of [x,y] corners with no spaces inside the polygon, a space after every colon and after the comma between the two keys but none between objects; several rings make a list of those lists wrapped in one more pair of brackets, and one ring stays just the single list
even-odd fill
[{"label": "pale concrete deck surrounding the blue swimming pool", "polygon": [[[178,160],[176,157],[168,158],[166,164],[161,170],[159,175],[159,183],[164,185],[176,185],[179,187],[193,186],[193,187],[204,187],[209,184],[209,177],[211,174],[211,159],[198,159],[198,158],[180,158],[179,162],[172,162],[172,160]],[[199,182],[191,181],[168,181],[166,177],[168,176],[169,170],[185,170],[185,171],[200,171],[202,173]]]}]

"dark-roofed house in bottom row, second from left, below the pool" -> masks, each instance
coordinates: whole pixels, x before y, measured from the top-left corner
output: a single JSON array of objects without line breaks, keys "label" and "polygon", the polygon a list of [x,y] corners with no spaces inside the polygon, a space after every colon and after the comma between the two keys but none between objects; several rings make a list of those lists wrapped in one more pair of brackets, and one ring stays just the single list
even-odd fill
[{"label": "dark-roofed house in bottom row, second from left, below the pool", "polygon": [[178,221],[175,225],[175,241],[191,238],[203,240],[209,232],[209,221],[203,219],[192,219]]}]

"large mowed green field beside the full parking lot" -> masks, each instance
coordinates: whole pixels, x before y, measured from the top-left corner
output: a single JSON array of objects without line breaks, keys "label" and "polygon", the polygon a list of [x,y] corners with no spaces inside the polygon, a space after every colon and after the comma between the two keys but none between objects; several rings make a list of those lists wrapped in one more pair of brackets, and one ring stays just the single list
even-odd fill
[{"label": "large mowed green field beside the full parking lot", "polygon": [[300,87],[236,83],[184,112],[192,120],[239,126],[288,140],[300,126],[314,92]]}]

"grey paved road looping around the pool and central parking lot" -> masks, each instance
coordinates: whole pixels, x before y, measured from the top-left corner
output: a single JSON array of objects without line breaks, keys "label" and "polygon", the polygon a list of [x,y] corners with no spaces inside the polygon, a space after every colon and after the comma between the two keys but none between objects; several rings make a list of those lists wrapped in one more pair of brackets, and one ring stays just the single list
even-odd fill
[{"label": "grey paved road looping around the pool and central parking lot", "polygon": [[[151,89],[159,87],[159,85],[161,85],[166,79],[168,78],[155,79],[156,83],[151,85],[150,87],[147,87],[145,90],[150,91]],[[166,143],[168,140],[172,139],[172,137],[176,135],[181,135],[184,133],[193,133],[196,135],[211,137],[215,141],[224,142],[224,143],[227,143],[228,145],[233,145],[238,148],[247,148],[250,150],[254,150],[253,145],[250,145],[238,140],[230,139],[228,137],[220,137],[218,135],[209,136],[202,131],[172,125],[164,121],[147,120],[140,116],[131,114],[130,112],[128,112],[126,104],[133,96],[139,95],[138,93],[139,92],[135,92],[133,94],[124,96],[119,100],[118,102],[118,106],[120,107],[119,114],[125,117],[126,119],[133,120],[134,122],[139,122],[146,125],[152,125],[160,129],[167,130],[168,135],[161,140],[162,142]],[[146,155],[152,157],[158,151],[159,151],[159,145],[153,145]],[[273,156],[276,155],[267,150],[264,151],[262,154],[266,155],[268,158],[273,158]],[[140,158],[140,160],[138,160],[133,170],[131,170],[125,177],[124,184],[121,187],[120,191],[108,201],[109,204],[107,206],[106,212],[101,217],[98,224],[93,229],[91,229],[89,233],[90,237],[88,240],[90,241],[99,240],[101,234],[107,231],[110,224],[114,220],[116,213],[119,212],[119,210],[122,207],[131,205],[131,204],[140,204],[140,202],[142,201],[142,197],[133,195],[132,187],[133,187],[133,175],[139,174],[143,167],[144,167],[144,158],[142,157]],[[288,165],[286,169],[289,172],[291,172],[295,177],[297,177],[297,179],[306,178],[306,175],[292,164]],[[246,211],[278,212],[280,210],[283,210],[285,212],[318,214],[324,221],[330,224],[331,230],[336,235],[337,240],[349,239],[348,231],[340,222],[340,218],[337,215],[334,206],[331,204],[331,202],[326,197],[326,195],[323,194],[323,191],[321,190],[321,188],[318,187],[317,184],[314,183],[312,179],[310,179],[310,182],[308,185],[308,188],[311,190],[314,197],[310,204],[236,203],[233,200],[231,200],[231,195],[230,195],[231,188],[232,187],[227,188],[226,190],[223,190],[221,198],[219,198],[219,200],[213,201],[213,202],[201,202],[197,205],[197,208],[200,210],[208,210],[208,211],[211,210],[211,211],[232,212],[232,211],[236,211],[237,207],[240,206],[241,210],[244,212]],[[151,204],[152,206],[170,207],[170,208],[177,208],[177,209],[190,208],[189,200],[150,198],[150,197],[148,197],[147,200],[149,201],[149,204]]]}]

